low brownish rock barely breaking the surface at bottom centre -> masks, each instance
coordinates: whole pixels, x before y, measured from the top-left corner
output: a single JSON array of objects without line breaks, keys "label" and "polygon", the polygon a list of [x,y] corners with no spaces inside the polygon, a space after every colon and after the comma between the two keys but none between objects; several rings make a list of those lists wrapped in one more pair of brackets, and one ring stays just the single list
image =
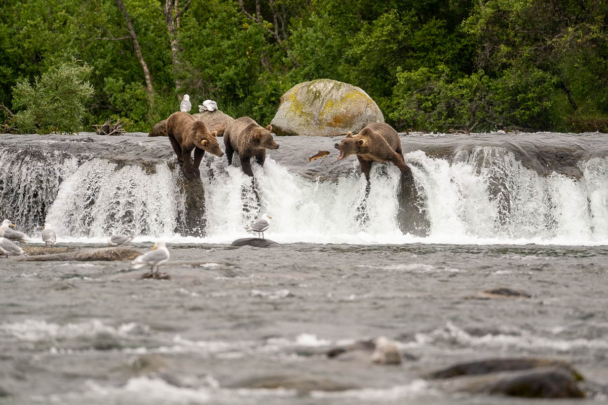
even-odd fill
[{"label": "low brownish rock barely breaking the surface at bottom centre", "polygon": [[253,377],[239,383],[230,384],[229,388],[254,388],[254,389],[289,389],[296,390],[300,394],[311,391],[344,391],[356,387],[337,383],[326,378],[315,378],[312,376],[288,376],[269,375]]}]

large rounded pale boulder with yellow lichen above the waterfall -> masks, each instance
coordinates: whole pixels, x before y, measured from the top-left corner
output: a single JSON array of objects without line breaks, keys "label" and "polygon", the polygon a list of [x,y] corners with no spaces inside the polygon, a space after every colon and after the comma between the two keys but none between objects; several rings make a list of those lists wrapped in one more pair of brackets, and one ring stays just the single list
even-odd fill
[{"label": "large rounded pale boulder with yellow lichen above the waterfall", "polygon": [[296,84],[281,96],[272,132],[277,135],[335,137],[357,133],[384,115],[364,90],[341,81],[319,79]]}]

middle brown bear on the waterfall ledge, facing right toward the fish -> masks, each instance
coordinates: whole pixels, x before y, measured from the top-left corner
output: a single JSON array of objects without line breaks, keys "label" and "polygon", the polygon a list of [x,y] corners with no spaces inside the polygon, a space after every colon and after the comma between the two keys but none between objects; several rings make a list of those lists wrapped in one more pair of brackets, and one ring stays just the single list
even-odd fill
[{"label": "middle brown bear on the waterfall ledge, facing right toward the fish", "polygon": [[238,153],[241,168],[246,175],[254,177],[250,159],[255,157],[261,166],[266,160],[266,149],[278,149],[278,144],[272,139],[272,126],[262,128],[249,117],[241,117],[230,122],[224,131],[224,146],[228,165],[232,165],[232,154]]}]

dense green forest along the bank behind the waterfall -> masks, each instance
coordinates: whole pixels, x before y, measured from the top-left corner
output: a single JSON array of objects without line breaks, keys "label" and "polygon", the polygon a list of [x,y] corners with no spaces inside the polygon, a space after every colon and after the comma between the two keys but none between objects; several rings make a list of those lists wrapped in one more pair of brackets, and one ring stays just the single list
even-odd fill
[{"label": "dense green forest along the bank behind the waterfall", "polygon": [[607,0],[0,0],[0,10],[5,129],[55,128],[36,116],[46,111],[72,125],[58,131],[120,118],[147,132],[184,93],[192,112],[211,98],[265,125],[294,84],[331,78],[364,89],[398,131],[608,132]]}]

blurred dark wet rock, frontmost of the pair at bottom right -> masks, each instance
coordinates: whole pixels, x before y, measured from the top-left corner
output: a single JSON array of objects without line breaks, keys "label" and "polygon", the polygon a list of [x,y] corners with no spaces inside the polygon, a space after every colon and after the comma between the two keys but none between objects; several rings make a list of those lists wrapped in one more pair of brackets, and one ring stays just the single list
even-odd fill
[{"label": "blurred dark wet rock, frontmost of the pair at bottom right", "polygon": [[584,398],[569,370],[540,367],[516,372],[465,376],[443,384],[448,392],[483,393],[525,398]]}]

